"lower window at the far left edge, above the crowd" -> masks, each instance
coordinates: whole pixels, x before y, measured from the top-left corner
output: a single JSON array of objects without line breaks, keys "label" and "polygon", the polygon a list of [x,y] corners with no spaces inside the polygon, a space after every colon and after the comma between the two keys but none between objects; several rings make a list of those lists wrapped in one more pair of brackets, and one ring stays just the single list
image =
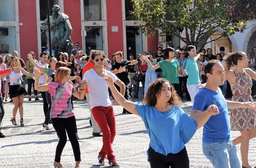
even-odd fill
[{"label": "lower window at the far left edge, above the crowd", "polygon": [[16,50],[15,27],[0,27],[0,46],[2,54]]}]

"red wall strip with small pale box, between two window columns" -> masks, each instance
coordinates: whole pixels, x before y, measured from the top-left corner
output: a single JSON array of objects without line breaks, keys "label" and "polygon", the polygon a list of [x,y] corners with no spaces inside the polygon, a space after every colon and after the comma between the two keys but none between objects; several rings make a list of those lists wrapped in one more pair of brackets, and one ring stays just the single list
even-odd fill
[{"label": "red wall strip with small pale box, between two window columns", "polygon": [[[108,57],[112,59],[113,53],[123,51],[122,1],[106,1],[106,20],[108,20]],[[118,32],[112,32],[112,26],[118,26]]]}]

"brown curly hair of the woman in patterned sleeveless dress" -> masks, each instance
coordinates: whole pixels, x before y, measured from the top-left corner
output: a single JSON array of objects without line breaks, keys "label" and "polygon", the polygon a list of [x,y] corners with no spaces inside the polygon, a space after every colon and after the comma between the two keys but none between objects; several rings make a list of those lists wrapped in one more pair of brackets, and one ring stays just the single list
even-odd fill
[{"label": "brown curly hair of the woman in patterned sleeveless dress", "polygon": [[232,64],[237,65],[238,60],[241,60],[243,58],[243,55],[246,55],[242,51],[236,51],[236,52],[230,52],[226,55],[224,58],[225,65],[224,68],[225,70],[230,70],[232,68]]}]

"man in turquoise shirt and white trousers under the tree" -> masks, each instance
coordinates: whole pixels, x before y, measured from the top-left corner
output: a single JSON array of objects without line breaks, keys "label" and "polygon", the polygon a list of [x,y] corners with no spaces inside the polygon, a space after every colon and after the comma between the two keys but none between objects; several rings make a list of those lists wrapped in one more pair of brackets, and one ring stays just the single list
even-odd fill
[{"label": "man in turquoise shirt and white trousers under the tree", "polygon": [[186,87],[191,101],[192,103],[194,103],[194,98],[199,91],[199,85],[201,85],[197,59],[195,58],[197,52],[196,47],[193,45],[189,45],[187,47],[187,52],[189,54],[189,57],[184,62],[182,75],[186,73],[188,74]]}]

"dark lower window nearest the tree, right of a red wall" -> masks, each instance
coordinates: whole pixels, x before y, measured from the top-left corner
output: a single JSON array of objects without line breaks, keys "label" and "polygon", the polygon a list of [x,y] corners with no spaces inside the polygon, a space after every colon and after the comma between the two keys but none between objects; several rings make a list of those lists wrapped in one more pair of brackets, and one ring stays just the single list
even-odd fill
[{"label": "dark lower window nearest the tree, right of a red wall", "polygon": [[[126,26],[127,58],[130,53],[135,55],[143,52],[142,33],[139,26]],[[134,55],[134,56],[135,56]]]}]

